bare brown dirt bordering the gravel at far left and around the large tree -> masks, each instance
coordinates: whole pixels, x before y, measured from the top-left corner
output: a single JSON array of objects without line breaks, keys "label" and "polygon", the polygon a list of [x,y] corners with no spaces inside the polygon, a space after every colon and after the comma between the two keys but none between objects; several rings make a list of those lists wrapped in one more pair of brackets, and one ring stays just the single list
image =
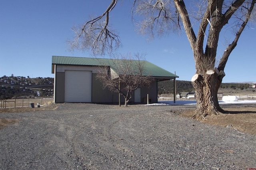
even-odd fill
[{"label": "bare brown dirt bordering the gravel at far left and around the large tree", "polygon": [[[2,113],[12,113],[12,112],[35,112],[35,111],[47,111],[57,109],[56,105],[47,105],[40,108],[30,108],[30,107],[20,107],[20,108],[6,108],[0,109],[0,114]],[[224,108],[226,111],[230,111],[231,114],[221,114],[218,116],[207,116],[203,123],[208,123],[212,125],[218,125],[222,127],[229,127],[237,129],[241,132],[246,132],[256,135],[256,107],[232,107]],[[194,114],[194,110],[186,110],[179,113],[180,116],[191,118]],[[12,125],[18,122],[18,119],[0,119],[0,129],[8,125]]]}]

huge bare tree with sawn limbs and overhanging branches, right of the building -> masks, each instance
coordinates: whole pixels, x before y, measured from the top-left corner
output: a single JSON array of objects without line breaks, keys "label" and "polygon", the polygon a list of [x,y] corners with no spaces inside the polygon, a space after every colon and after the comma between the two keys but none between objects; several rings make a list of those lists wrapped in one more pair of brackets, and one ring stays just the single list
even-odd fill
[{"label": "huge bare tree with sawn limbs and overhanging branches, right of the building", "polygon": [[[142,16],[140,18],[144,18],[138,22],[138,26],[142,34],[149,34],[150,38],[154,38],[155,34],[163,36],[184,29],[196,64],[196,74],[192,77],[197,100],[194,118],[204,119],[206,115],[226,113],[218,103],[217,92],[222,78],[225,76],[224,68],[228,57],[236,47],[244,28],[255,16],[256,0],[198,0],[194,4],[192,2],[186,1],[187,6],[192,7],[191,10],[188,10],[183,0],[134,0],[132,16],[138,14]],[[87,47],[86,45],[90,44],[95,53],[106,49],[110,49],[108,52],[111,52],[114,49],[113,44],[108,42],[113,40],[115,45],[120,44],[118,36],[108,34],[108,29],[106,29],[109,28],[108,13],[116,3],[117,0],[112,0],[102,16],[90,20],[76,31],[80,33],[77,38],[81,38],[81,42],[86,42],[85,45],[83,43],[80,45]],[[94,26],[96,26],[96,22],[100,23],[103,17],[105,17],[104,26],[97,28],[101,30],[98,33]],[[217,61],[220,32],[229,29],[234,32],[234,39],[221,54],[220,60]],[[197,34],[195,34],[195,30],[198,32]],[[80,36],[86,32],[92,33],[94,38],[86,39],[86,37]],[[108,41],[98,41],[102,32],[105,32],[104,38]],[[77,39],[75,42],[78,42]],[[109,47],[101,48],[102,45],[104,47],[109,45]],[[100,49],[100,51],[94,49]]]}]

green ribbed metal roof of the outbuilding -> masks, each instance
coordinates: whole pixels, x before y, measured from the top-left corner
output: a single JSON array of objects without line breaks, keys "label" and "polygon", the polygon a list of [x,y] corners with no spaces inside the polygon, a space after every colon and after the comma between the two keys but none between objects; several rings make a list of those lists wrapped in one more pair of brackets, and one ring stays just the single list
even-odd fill
[{"label": "green ribbed metal roof of the outbuilding", "polygon": [[[112,69],[116,70],[115,63],[118,59],[105,59],[105,58],[87,58],[87,57],[63,57],[63,56],[52,56],[52,65],[90,65],[90,66],[110,66]],[[130,60],[129,60],[130,61]],[[138,60],[133,60],[134,65]],[[154,65],[148,61],[144,62],[144,76],[152,77],[166,77],[166,79],[178,77],[177,75]],[[168,77],[168,78],[167,78]]]}]

